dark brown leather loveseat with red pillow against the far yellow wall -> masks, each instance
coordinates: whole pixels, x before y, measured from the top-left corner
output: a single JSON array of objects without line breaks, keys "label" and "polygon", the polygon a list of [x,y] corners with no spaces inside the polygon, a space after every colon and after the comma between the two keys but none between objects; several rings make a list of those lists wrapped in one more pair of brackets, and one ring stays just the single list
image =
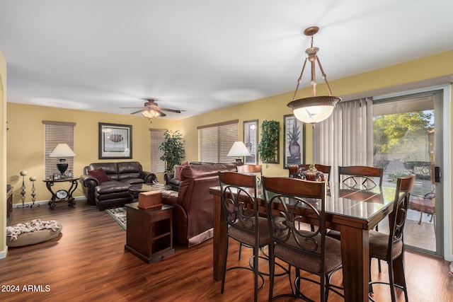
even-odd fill
[{"label": "dark brown leather loveseat with red pillow against the far yellow wall", "polygon": [[[88,175],[88,170],[102,168],[108,181]],[[95,204],[100,211],[108,207],[119,207],[134,201],[129,192],[130,185],[156,183],[154,173],[146,172],[138,161],[120,163],[90,163],[84,168],[79,182],[83,185],[88,204]]]}]

